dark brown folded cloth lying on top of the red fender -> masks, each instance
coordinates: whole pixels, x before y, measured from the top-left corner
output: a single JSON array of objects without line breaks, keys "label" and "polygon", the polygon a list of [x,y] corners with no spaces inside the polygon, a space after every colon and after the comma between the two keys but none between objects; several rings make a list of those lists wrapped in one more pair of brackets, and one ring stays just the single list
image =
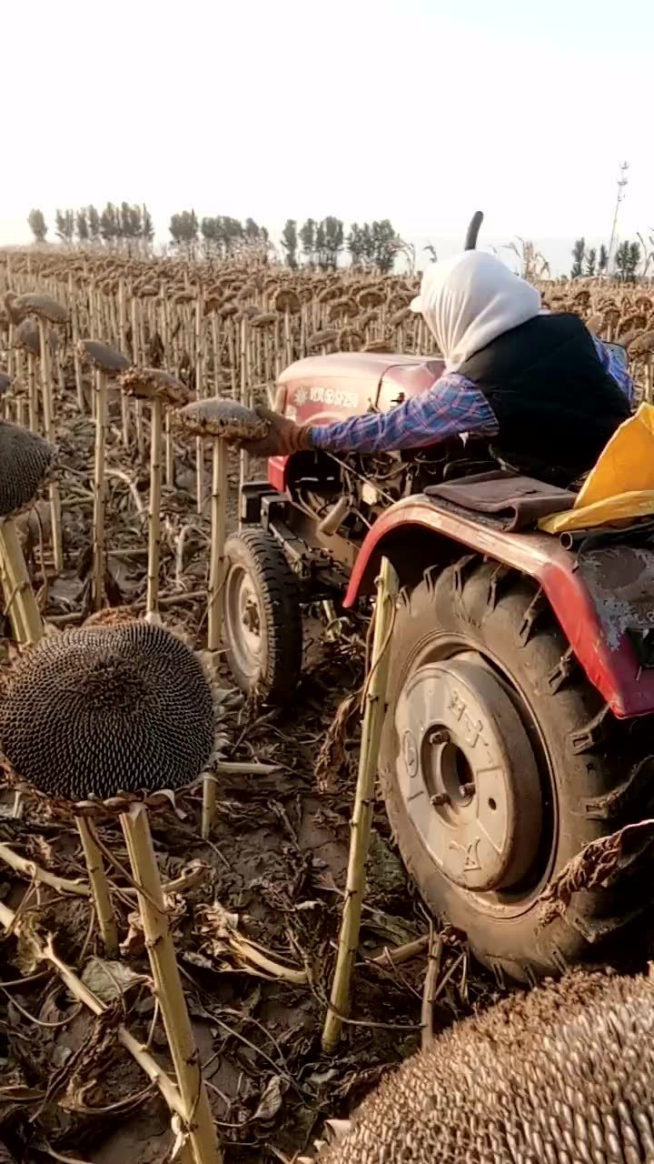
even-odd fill
[{"label": "dark brown folded cloth lying on top of the red fender", "polygon": [[577,496],[570,489],[560,489],[511,469],[428,485],[425,494],[446,509],[468,516],[483,514],[505,532],[534,528],[540,518],[571,509]]}]

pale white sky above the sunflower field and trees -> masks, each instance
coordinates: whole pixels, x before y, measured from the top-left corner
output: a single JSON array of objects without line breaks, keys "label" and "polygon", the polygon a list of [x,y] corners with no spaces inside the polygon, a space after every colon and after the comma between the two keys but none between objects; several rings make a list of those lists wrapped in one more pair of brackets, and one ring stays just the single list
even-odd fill
[{"label": "pale white sky above the sunflower field and trees", "polygon": [[[2,5],[0,243],[41,207],[335,214],[404,236],[654,228],[651,0]],[[552,242],[554,240],[554,242]]]}]

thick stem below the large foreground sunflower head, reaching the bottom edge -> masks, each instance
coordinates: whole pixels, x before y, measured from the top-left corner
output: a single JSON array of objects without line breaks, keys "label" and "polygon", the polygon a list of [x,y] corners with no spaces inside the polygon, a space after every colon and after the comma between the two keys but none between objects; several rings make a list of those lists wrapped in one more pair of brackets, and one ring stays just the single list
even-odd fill
[{"label": "thick stem below the large foreground sunflower head, reaching the bottom edge", "polygon": [[184,1102],[189,1143],[196,1164],[219,1164],[222,1161],[222,1152],[218,1144],[198,1049],[193,1041],[191,1021],[182,988],[148,814],[143,804],[134,804],[129,812],[121,815],[120,819],[134,879],[140,886],[141,921],[148,946],[155,993],[162,1010],[179,1094]]}]

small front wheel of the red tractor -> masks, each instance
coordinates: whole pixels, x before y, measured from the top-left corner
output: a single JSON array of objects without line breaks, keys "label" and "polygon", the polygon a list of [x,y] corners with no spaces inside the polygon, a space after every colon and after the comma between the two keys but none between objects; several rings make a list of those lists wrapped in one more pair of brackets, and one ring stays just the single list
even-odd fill
[{"label": "small front wheel of the red tractor", "polygon": [[225,544],[223,626],[227,661],[241,690],[287,700],[301,670],[298,581],[270,533],[251,528]]}]

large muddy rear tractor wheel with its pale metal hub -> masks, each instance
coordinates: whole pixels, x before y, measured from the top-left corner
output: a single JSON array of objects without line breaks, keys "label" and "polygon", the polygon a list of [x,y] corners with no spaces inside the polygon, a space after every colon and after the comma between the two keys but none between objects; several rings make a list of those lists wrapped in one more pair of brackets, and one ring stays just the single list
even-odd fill
[{"label": "large muddy rear tractor wheel with its pale metal hub", "polygon": [[498,979],[588,959],[642,899],[631,878],[541,925],[563,866],[652,803],[647,747],[602,711],[528,579],[468,556],[400,602],[379,757],[389,818],[427,906]]}]

